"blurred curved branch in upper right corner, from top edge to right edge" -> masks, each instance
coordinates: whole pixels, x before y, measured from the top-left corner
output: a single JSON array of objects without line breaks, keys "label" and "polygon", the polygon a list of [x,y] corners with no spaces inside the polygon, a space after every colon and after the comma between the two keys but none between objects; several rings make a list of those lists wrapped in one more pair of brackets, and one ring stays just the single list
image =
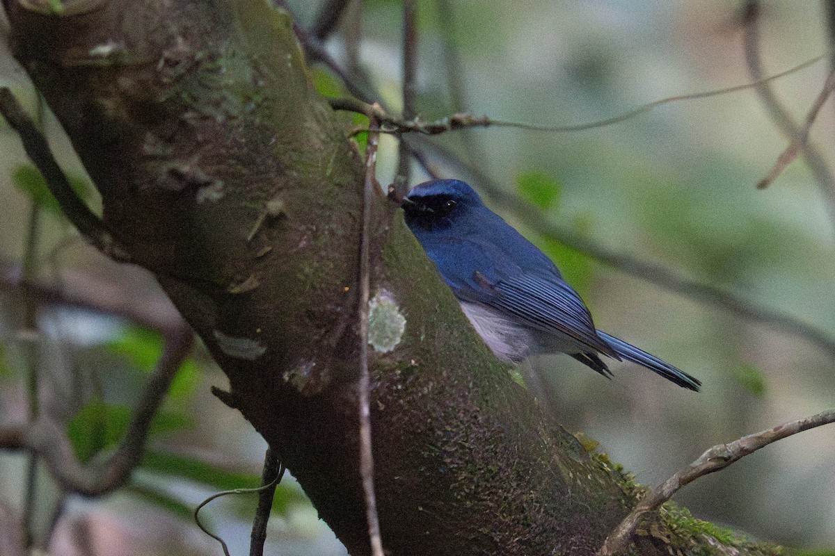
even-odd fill
[{"label": "blurred curved branch in upper right corner, from top edge to right edge", "polygon": [[745,55],[748,64],[748,71],[756,83],[757,95],[760,97],[763,106],[771,116],[774,124],[784,133],[797,147],[806,161],[809,171],[812,173],[820,189],[822,196],[826,199],[829,218],[835,226],[835,175],[826,163],[820,149],[814,144],[806,143],[803,140],[803,132],[800,126],[794,121],[792,115],[782,105],[769,83],[762,79],[763,68],[760,55],[760,30],[759,14],[762,11],[761,3],[758,0],[748,0],[742,13],[742,23],[745,30]]}]

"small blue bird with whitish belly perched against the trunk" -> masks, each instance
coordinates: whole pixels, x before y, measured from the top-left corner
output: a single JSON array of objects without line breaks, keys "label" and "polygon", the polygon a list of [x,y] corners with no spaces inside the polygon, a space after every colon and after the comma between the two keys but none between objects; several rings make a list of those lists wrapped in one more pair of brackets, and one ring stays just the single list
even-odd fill
[{"label": "small blue bird with whitish belly perched against the trunk", "polygon": [[538,248],[485,207],[466,183],[421,183],[403,199],[406,223],[500,359],[568,353],[603,376],[600,359],[626,359],[691,390],[701,382],[595,328],[589,309]]}]

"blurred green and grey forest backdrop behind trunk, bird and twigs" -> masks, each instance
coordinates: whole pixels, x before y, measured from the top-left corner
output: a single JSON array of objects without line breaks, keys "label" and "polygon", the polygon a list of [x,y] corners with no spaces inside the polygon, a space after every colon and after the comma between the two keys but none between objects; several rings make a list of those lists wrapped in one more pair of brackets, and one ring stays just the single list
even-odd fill
[{"label": "blurred green and grey forest backdrop behind trunk, bird and twigs", "polygon": [[[311,25],[321,7],[288,3],[302,27]],[[417,2],[417,113],[425,120],[443,118],[460,103],[476,116],[564,126],[605,120],[663,98],[751,83],[742,4]],[[768,83],[797,122],[830,69],[827,4],[762,3],[758,52],[765,75],[823,57]],[[397,111],[402,106],[401,3],[370,0],[349,8],[325,46],[337,61],[348,63],[347,44],[357,46],[357,62],[368,81]],[[346,94],[321,65],[313,78],[323,93]],[[8,53],[0,56],[0,81],[13,86],[28,106],[38,106]],[[832,101],[823,106],[811,134],[830,172],[835,172],[833,107]],[[40,110],[58,158],[95,204],[58,125],[46,108]],[[162,315],[173,309],[149,275],[95,253],[48,204],[33,210],[38,178],[27,173],[14,133],[3,128],[0,141],[5,284],[0,289],[0,413],[4,420],[25,415],[25,369],[33,360],[43,380],[61,393],[45,403],[63,408],[76,421],[78,408],[70,411],[72,403],[63,397],[91,383],[108,403],[129,407],[161,339],[124,319],[60,305],[38,313],[39,335],[33,336],[32,327],[24,325],[27,303],[10,284],[25,268],[37,268],[41,283],[78,292],[92,288]],[[835,338],[835,209],[802,158],[768,188],[756,188],[788,143],[757,92],[745,88],[665,103],[584,131],[493,127],[448,133],[433,139],[437,147],[414,144],[444,175],[463,178],[482,193],[501,188],[523,198],[566,237],[653,263],[731,293],[751,312],[791,316]],[[468,172],[456,157],[473,161],[483,175]],[[390,183],[397,167],[393,138],[383,141],[379,164],[381,183]],[[427,178],[417,165],[413,170],[412,183]],[[599,328],[704,384],[701,393],[692,393],[627,363],[613,363],[615,378],[607,381],[564,356],[534,360],[546,382],[543,403],[549,411],[565,428],[599,442],[641,483],[659,483],[716,443],[835,406],[831,348],[827,352],[807,334],[674,293],[652,273],[641,278],[580,253],[530,227],[521,213],[500,202],[501,196],[485,197],[554,258]],[[200,349],[195,353],[180,371],[180,389],[166,402],[173,415],[169,426],[160,427],[150,443],[161,455],[144,464],[131,488],[91,502],[63,499],[41,481],[37,518],[43,531],[58,523],[54,553],[85,553],[78,548],[84,546],[94,548],[86,553],[114,553],[110,541],[103,541],[109,535],[127,539],[118,547],[122,556],[218,553],[214,541],[186,516],[187,508],[217,489],[257,483],[265,446],[239,413],[210,395],[210,385],[225,386],[225,377]],[[81,449],[83,439],[75,442]],[[698,518],[753,537],[835,553],[833,454],[835,428],[818,428],[701,478],[675,499]],[[19,511],[25,473],[23,456],[0,453],[0,504]],[[345,553],[295,483],[282,483],[277,504],[271,553]],[[254,508],[255,498],[238,496],[207,510],[215,533],[233,553],[248,545]],[[159,534],[149,534],[152,529]]]}]

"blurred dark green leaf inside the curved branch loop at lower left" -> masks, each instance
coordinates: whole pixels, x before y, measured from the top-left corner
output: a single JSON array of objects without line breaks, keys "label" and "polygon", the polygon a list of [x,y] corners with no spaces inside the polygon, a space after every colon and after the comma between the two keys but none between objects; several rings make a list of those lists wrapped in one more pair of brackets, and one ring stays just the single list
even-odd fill
[{"label": "blurred dark green leaf inside the curved branch loop at lower left", "polygon": [[67,436],[78,461],[87,463],[102,450],[113,448],[124,436],[129,421],[127,406],[90,400],[67,423]]}]

